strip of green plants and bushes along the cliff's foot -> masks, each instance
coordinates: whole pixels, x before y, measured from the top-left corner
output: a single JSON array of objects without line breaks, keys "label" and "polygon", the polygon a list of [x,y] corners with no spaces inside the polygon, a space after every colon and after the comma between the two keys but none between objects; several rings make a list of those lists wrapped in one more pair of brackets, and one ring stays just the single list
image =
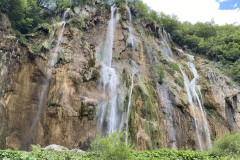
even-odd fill
[{"label": "strip of green plants and bushes along the cliff's foot", "polygon": [[68,150],[54,151],[45,150],[39,146],[32,146],[31,152],[5,150],[0,151],[0,159],[4,160],[146,160],[146,159],[168,159],[168,160],[204,160],[240,159],[240,134],[230,133],[215,141],[214,147],[209,152],[184,151],[160,149],[154,151],[134,151],[130,145],[125,143],[125,134],[113,134],[111,136],[98,138],[92,142],[91,152],[69,152]]}]

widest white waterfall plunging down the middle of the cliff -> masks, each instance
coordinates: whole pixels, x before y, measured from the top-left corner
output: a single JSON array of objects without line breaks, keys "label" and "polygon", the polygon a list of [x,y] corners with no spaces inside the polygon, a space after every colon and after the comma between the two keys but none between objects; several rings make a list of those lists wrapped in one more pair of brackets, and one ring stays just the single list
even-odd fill
[{"label": "widest white waterfall plunging down the middle of the cliff", "polygon": [[[107,133],[112,134],[122,129],[120,116],[121,89],[116,70],[112,67],[112,49],[115,28],[119,20],[118,8],[111,7],[111,19],[108,22],[107,35],[103,52],[101,53],[100,85],[103,89],[104,100],[99,104],[98,123],[100,130],[107,127]],[[105,126],[104,126],[105,125]]]}]

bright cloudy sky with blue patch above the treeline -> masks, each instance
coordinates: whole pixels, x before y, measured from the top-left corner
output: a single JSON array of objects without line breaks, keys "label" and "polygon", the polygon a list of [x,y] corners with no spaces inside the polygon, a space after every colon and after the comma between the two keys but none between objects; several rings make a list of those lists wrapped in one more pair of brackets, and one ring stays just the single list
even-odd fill
[{"label": "bright cloudy sky with blue patch above the treeline", "polygon": [[155,11],[177,15],[180,21],[240,25],[240,0],[143,0]]}]

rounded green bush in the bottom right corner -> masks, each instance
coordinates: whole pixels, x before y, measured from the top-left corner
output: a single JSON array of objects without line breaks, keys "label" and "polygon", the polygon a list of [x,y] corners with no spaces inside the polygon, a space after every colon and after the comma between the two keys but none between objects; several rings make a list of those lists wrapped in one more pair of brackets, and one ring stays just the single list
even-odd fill
[{"label": "rounded green bush in the bottom right corner", "polygon": [[211,152],[219,156],[240,155],[240,134],[231,132],[223,135],[222,138],[214,142]]}]

